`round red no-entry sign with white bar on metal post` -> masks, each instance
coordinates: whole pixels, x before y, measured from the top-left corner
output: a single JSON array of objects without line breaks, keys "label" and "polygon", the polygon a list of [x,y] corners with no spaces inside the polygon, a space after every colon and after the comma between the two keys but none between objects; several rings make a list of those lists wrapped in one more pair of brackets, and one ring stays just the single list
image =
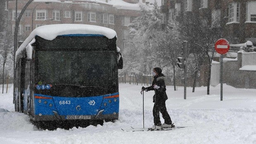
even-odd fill
[{"label": "round red no-entry sign with white bar on metal post", "polygon": [[216,52],[220,54],[220,101],[223,100],[223,54],[226,54],[230,48],[228,40],[219,39],[214,46]]}]

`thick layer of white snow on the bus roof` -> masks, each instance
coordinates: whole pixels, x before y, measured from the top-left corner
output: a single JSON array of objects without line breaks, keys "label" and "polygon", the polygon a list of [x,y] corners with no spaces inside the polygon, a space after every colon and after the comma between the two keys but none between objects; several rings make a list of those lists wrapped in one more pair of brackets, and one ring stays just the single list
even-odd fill
[{"label": "thick layer of white snow on the bus roof", "polygon": [[99,34],[104,35],[109,39],[116,36],[116,31],[102,27],[87,24],[52,24],[40,26],[34,29],[26,40],[21,44],[16,52],[16,57],[20,54],[24,48],[35,38],[36,35],[44,38],[45,40],[53,40],[58,35],[69,35],[69,34]]}]

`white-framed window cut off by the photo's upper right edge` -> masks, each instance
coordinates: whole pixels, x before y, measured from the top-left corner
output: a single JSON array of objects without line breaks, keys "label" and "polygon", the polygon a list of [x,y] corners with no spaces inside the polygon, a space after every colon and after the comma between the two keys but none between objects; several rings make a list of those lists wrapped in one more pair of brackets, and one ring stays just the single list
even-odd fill
[{"label": "white-framed window cut off by the photo's upper right edge", "polygon": [[249,1],[246,5],[246,21],[256,21],[256,1]]}]

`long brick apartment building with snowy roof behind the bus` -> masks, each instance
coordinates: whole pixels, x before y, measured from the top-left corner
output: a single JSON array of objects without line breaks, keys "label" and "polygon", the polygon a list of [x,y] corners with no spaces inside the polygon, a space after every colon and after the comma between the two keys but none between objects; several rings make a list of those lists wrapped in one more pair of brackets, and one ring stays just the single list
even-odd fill
[{"label": "long brick apartment building with snowy roof behind the bus", "polygon": [[[9,26],[15,28],[15,0],[7,2]],[[18,13],[28,0],[18,0]],[[33,29],[47,24],[90,24],[114,29],[117,46],[124,48],[128,24],[140,15],[145,0],[33,0],[26,8],[19,24],[19,40],[24,40]]]}]

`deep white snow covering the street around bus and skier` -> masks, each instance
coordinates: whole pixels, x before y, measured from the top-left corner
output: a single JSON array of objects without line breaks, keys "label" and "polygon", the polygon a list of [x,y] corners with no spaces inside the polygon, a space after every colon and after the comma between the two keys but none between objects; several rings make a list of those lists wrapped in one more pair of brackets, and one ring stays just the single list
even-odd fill
[{"label": "deep white snow covering the street around bus and skier", "polygon": [[[121,128],[143,127],[141,84],[120,84],[120,113],[116,123],[53,131],[38,130],[28,116],[15,112],[12,85],[9,87],[7,94],[0,94],[0,144],[256,144],[256,89],[224,84],[220,101],[220,85],[211,87],[210,95],[206,95],[206,87],[196,87],[194,93],[188,87],[185,100],[183,87],[174,91],[168,86],[166,107],[173,123],[189,127],[124,132]],[[144,94],[145,127],[153,125],[152,96],[153,92]]]}]

